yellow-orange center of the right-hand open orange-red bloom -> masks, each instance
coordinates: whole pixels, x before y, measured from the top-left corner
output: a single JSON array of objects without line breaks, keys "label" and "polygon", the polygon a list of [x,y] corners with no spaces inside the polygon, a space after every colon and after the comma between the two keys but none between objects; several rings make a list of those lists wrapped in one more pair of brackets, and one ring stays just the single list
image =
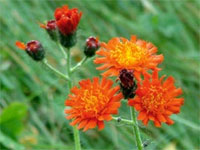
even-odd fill
[{"label": "yellow-orange center of the right-hand open orange-red bloom", "polygon": [[148,93],[142,97],[142,105],[147,110],[147,112],[157,112],[162,110],[165,106],[164,89],[158,86],[151,86],[148,89]]}]

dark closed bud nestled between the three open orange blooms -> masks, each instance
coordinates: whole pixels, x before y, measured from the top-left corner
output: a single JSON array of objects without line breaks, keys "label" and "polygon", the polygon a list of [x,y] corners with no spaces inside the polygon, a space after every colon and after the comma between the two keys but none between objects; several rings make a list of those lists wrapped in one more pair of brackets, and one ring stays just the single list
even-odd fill
[{"label": "dark closed bud nestled between the three open orange blooms", "polygon": [[122,69],[119,74],[120,87],[125,99],[133,98],[137,85],[134,80],[133,70]]}]

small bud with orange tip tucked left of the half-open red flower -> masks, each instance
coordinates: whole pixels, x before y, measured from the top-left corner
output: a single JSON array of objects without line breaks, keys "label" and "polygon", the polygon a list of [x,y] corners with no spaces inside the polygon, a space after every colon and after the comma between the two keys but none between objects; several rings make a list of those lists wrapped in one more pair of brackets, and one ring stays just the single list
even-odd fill
[{"label": "small bud with orange tip tucked left of the half-open red flower", "polygon": [[49,20],[46,24],[40,24],[40,27],[45,29],[52,40],[57,41],[57,25],[55,20]]}]

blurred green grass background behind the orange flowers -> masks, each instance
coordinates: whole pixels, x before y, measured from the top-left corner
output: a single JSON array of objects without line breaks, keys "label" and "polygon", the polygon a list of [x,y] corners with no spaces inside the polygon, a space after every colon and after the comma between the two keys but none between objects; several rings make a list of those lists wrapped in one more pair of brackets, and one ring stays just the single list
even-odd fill
[{"label": "blurred green grass background behind the orange flowers", "polygon": [[[200,149],[200,52],[199,0],[0,0],[0,146],[12,150],[73,150],[73,133],[64,118],[66,82],[42,63],[34,62],[15,47],[15,41],[36,39],[46,49],[50,64],[66,72],[65,60],[38,23],[53,19],[56,7],[68,4],[83,12],[78,44],[72,49],[73,64],[83,57],[85,39],[110,38],[132,34],[151,41],[165,56],[160,75],[172,75],[183,88],[185,104],[172,118],[175,124],[156,128],[141,122],[146,150]],[[93,58],[92,58],[93,59]],[[73,83],[99,76],[90,59],[74,74]],[[120,116],[130,118],[126,103]],[[132,129],[113,121],[101,132],[81,133],[85,150],[136,149]]]}]

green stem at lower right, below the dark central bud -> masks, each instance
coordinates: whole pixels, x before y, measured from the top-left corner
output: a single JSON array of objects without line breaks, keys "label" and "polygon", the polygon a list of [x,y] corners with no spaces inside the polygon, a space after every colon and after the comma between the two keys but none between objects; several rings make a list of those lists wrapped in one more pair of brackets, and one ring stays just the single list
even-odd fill
[{"label": "green stem at lower right, below the dark central bud", "polygon": [[131,119],[133,120],[133,123],[134,123],[134,125],[132,127],[133,127],[133,131],[135,133],[137,148],[138,148],[138,150],[142,150],[143,149],[142,140],[140,137],[140,131],[139,131],[139,127],[138,127],[138,123],[137,123],[137,119],[136,119],[135,110],[133,107],[130,107],[130,113],[131,113]]}]

